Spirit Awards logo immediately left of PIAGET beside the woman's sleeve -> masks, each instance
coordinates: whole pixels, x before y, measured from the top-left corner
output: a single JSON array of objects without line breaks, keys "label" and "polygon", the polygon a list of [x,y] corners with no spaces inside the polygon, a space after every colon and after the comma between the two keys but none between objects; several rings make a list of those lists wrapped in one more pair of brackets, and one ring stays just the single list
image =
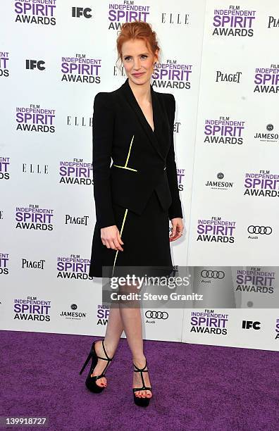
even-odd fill
[{"label": "Spirit Awards logo immediately left of PIAGET beside the woman's sleeve", "polygon": [[30,204],[28,207],[16,207],[16,229],[53,230],[54,210],[39,208]]}]

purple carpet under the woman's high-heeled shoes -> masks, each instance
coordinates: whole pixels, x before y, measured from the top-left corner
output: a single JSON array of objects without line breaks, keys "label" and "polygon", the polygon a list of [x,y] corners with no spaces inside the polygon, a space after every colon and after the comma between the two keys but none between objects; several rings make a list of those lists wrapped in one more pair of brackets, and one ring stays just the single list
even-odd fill
[{"label": "purple carpet under the woman's high-heeled shoes", "polygon": [[48,427],[13,430],[279,430],[278,353],[144,341],[154,398],[132,399],[126,339],[106,377],[85,387],[80,368],[99,337],[2,331],[0,416],[49,416]]}]

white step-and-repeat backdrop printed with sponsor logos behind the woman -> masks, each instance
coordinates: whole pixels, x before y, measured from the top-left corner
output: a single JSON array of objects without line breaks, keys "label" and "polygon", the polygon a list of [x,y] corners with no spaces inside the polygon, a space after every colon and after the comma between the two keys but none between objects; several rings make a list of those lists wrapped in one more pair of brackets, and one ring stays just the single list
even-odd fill
[{"label": "white step-and-repeat backdrop printed with sponsor logos behind the woman", "polygon": [[278,350],[278,1],[2,0],[0,19],[1,329],[105,333],[93,101],[125,81],[116,37],[137,19],[161,46],[151,84],[176,100],[173,264],[204,295],[144,308],[144,338]]}]

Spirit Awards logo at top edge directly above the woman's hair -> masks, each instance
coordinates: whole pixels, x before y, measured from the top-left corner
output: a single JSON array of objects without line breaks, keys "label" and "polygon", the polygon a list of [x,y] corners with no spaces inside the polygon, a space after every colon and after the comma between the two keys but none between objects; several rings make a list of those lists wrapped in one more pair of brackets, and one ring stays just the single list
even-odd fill
[{"label": "Spirit Awards logo at top edge directly above the woman's hair", "polygon": [[135,20],[149,20],[150,6],[134,4],[134,1],[109,4],[109,30],[120,30],[122,23],[131,23]]}]

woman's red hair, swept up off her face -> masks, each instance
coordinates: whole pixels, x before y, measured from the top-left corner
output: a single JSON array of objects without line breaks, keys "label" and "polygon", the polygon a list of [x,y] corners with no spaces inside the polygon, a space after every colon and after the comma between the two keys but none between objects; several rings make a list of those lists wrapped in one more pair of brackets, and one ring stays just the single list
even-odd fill
[{"label": "woman's red hair, swept up off her face", "polygon": [[147,48],[155,56],[156,50],[160,51],[156,32],[152,30],[151,24],[144,21],[132,21],[132,23],[123,23],[120,27],[119,35],[116,39],[116,47],[118,51],[117,61],[123,60],[122,46],[124,42],[130,39],[143,39],[147,44]]}]

